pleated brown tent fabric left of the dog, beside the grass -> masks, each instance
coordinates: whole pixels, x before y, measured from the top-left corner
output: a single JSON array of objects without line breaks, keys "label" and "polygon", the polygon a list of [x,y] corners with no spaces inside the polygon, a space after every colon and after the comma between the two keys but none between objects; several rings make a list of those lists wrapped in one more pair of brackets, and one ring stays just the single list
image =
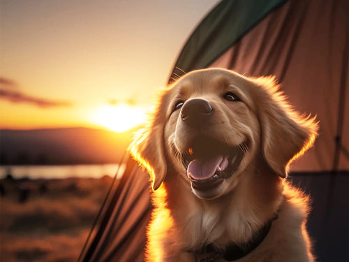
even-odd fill
[{"label": "pleated brown tent fabric left of the dog, beside the grass", "polygon": [[126,168],[78,261],[143,261],[151,215],[149,175],[127,155]]}]

